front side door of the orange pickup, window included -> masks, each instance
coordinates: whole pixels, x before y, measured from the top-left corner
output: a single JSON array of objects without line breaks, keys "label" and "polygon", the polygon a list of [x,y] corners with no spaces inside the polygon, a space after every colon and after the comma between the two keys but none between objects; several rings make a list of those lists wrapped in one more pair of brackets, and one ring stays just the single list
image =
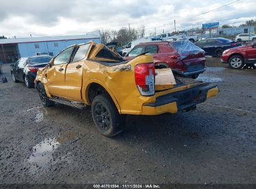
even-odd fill
[{"label": "front side door of the orange pickup, window included", "polygon": [[54,58],[52,67],[47,70],[47,88],[51,95],[65,96],[65,71],[74,47],[66,48],[60,52]]}]

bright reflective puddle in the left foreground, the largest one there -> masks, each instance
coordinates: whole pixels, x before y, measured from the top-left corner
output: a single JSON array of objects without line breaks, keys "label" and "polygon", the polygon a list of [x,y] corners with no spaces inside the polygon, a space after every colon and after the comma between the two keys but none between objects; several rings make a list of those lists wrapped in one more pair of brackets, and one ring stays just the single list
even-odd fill
[{"label": "bright reflective puddle in the left foreground, the largest one there", "polygon": [[56,141],[56,139],[45,139],[33,147],[33,153],[29,157],[29,162],[39,166],[49,164],[52,162],[52,154],[59,144],[60,143]]}]

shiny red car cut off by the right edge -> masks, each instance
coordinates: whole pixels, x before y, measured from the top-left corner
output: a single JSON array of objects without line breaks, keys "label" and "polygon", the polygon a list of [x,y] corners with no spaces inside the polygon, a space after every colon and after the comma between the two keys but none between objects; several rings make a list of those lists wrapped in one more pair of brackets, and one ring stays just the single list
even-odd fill
[{"label": "shiny red car cut off by the right edge", "polygon": [[222,63],[229,63],[230,68],[239,69],[244,65],[254,65],[256,63],[256,43],[229,48],[222,53]]}]

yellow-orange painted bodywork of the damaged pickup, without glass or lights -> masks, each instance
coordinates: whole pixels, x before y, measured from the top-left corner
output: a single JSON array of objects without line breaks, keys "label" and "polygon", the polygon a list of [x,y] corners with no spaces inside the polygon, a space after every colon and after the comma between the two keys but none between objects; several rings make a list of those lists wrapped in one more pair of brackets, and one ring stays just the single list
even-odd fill
[{"label": "yellow-orange painted bodywork of the damaged pickup, without glass or lights", "polygon": [[[90,51],[92,46],[94,46],[93,50]],[[87,55],[78,62],[54,65],[54,60],[52,60],[52,67],[46,67],[37,72],[36,81],[44,84],[49,98],[60,96],[70,100],[81,101],[87,105],[90,105],[88,90],[93,83],[97,83],[110,94],[120,114],[145,115],[176,113],[178,111],[176,103],[165,104],[157,108],[144,106],[144,104],[154,103],[158,96],[201,85],[201,83],[195,83],[176,88],[173,85],[161,85],[156,86],[156,90],[159,91],[153,96],[141,96],[135,84],[135,73],[133,70],[135,65],[139,63],[153,62],[152,55],[141,55],[127,63],[107,67],[93,61],[107,60],[106,58],[95,57],[103,47],[103,44],[90,42]],[[77,68],[77,65],[81,65],[82,67]],[[130,65],[131,71],[120,71],[119,68],[125,65]],[[59,71],[60,68],[63,68],[63,70]],[[207,93],[207,98],[216,95],[215,90],[210,90]]]}]

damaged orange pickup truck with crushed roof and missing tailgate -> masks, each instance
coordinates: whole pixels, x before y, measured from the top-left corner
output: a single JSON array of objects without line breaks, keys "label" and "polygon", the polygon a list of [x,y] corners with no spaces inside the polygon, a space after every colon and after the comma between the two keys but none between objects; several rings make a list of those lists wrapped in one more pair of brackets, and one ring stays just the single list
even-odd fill
[{"label": "damaged orange pickup truck with crushed roof and missing tailgate", "polygon": [[37,72],[35,84],[44,106],[92,106],[93,121],[106,137],[123,131],[126,114],[189,111],[219,91],[216,85],[154,65],[146,52],[126,61],[95,42],[62,50]]}]

